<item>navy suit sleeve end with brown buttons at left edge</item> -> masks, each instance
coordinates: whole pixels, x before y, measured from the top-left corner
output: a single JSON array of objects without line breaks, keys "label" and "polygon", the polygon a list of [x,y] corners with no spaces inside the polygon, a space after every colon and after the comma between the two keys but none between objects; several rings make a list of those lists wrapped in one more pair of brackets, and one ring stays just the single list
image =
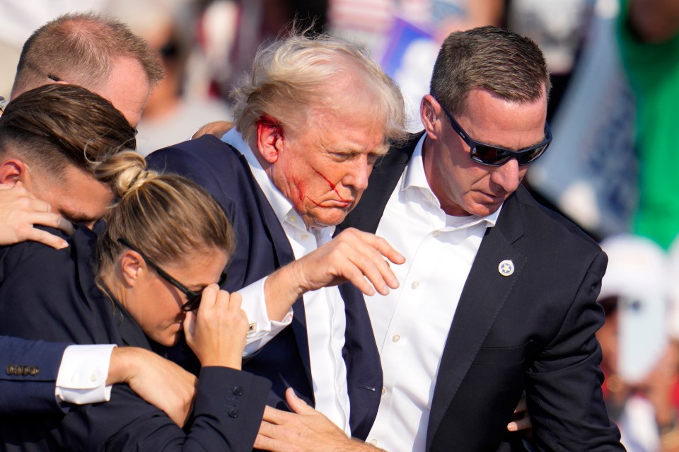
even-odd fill
[{"label": "navy suit sleeve end with brown buttons at left edge", "polygon": [[68,345],[0,336],[0,415],[62,412],[54,385]]}]

